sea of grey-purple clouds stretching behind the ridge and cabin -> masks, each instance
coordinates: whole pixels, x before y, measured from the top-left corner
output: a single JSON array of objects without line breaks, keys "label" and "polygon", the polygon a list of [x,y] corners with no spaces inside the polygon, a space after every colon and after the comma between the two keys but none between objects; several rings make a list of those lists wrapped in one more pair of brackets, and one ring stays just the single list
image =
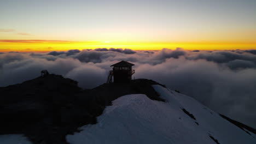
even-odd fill
[{"label": "sea of grey-purple clouds stretching behind the ridge and cabin", "polygon": [[256,128],[256,50],[2,52],[0,87],[34,79],[47,69],[93,88],[107,81],[110,65],[122,60],[135,64],[133,78],[155,80]]}]

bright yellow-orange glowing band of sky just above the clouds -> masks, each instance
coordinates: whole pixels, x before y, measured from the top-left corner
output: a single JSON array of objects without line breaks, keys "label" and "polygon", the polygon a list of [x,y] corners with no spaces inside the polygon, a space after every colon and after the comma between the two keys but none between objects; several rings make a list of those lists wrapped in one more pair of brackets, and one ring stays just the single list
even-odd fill
[{"label": "bright yellow-orange glowing band of sky just above the clouds", "polygon": [[256,42],[138,42],[138,41],[68,41],[68,40],[0,40],[0,52],[49,52],[71,49],[121,48],[132,50],[161,50],[163,48],[184,50],[248,50],[256,49]]}]

